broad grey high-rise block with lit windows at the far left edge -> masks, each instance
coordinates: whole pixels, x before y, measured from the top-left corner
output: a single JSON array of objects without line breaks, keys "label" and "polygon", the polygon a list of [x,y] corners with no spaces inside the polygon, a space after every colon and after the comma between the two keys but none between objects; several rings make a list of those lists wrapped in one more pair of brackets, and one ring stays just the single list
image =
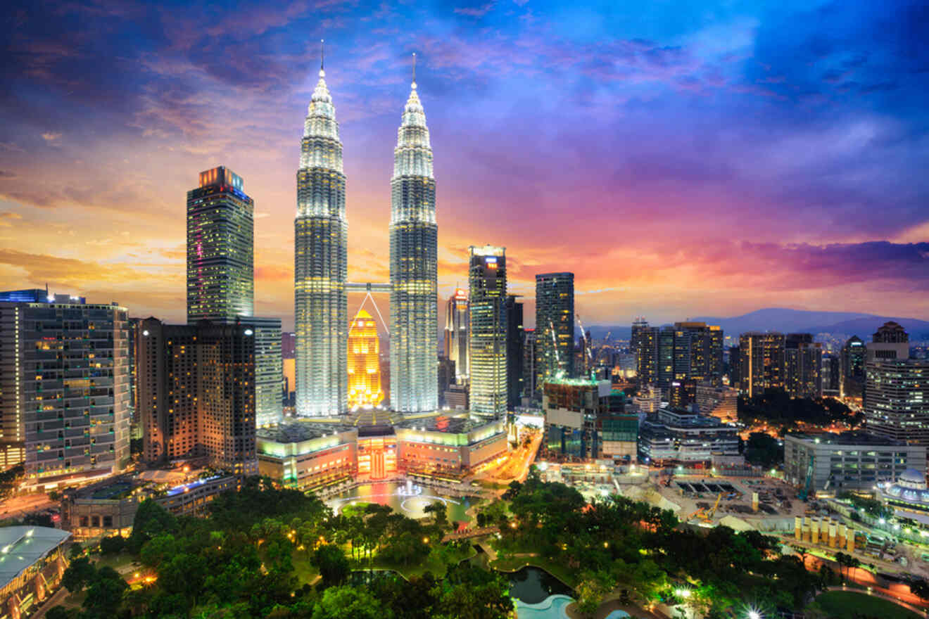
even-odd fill
[{"label": "broad grey high-rise block with lit windows at the far left edge", "polygon": [[29,488],[122,470],[129,459],[128,317],[46,290],[0,293],[0,466]]}]

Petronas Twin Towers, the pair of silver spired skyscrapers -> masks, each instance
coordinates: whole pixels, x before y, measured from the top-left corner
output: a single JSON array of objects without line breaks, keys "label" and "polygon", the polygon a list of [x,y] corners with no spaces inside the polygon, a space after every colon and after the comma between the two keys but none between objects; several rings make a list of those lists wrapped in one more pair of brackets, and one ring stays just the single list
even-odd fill
[{"label": "Petronas Twin Towers, the pair of silver spired skyscrapers", "polygon": [[[307,417],[347,411],[346,176],[324,78],[321,69],[296,173],[296,413]],[[432,147],[415,73],[390,187],[390,403],[418,413],[438,407],[438,226]]]}]

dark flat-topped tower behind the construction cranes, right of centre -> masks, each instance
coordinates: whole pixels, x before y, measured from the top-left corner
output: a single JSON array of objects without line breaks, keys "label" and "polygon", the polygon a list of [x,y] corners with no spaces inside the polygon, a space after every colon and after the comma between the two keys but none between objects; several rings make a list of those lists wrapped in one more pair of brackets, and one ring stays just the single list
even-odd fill
[{"label": "dark flat-topped tower behind the construction cranes, right of centre", "polygon": [[574,274],[535,276],[535,383],[574,376]]}]

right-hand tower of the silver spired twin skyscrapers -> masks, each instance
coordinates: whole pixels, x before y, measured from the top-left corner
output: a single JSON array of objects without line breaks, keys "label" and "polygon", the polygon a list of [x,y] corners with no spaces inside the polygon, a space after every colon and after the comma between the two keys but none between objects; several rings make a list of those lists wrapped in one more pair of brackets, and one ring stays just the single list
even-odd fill
[{"label": "right-hand tower of the silver spired twin skyscrapers", "polygon": [[415,73],[390,187],[390,406],[417,413],[438,407],[438,226],[432,147]]}]

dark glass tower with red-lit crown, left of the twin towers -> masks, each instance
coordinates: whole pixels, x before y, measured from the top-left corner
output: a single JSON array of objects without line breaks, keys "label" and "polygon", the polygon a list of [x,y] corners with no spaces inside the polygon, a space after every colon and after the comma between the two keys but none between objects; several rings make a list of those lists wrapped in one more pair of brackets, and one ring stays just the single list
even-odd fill
[{"label": "dark glass tower with red-lit crown, left of the twin towers", "polygon": [[255,310],[255,203],[220,165],[187,192],[187,321],[234,321]]}]

